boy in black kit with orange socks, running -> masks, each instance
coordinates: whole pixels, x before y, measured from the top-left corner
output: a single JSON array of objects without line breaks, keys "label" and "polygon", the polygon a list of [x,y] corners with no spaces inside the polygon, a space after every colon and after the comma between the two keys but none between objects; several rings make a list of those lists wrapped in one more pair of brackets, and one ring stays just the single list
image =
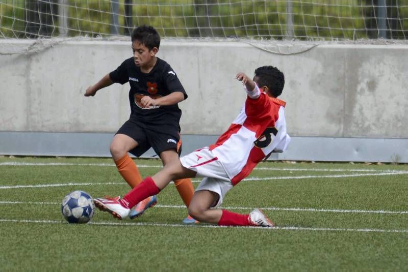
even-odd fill
[{"label": "boy in black kit with orange socks, running", "polygon": [[[187,94],[170,65],[156,56],[159,46],[160,36],[155,28],[137,27],[132,33],[133,57],[85,92],[88,97],[113,83],[129,82],[131,85],[131,115],[115,134],[110,152],[119,173],[132,188],[141,183],[142,177],[128,152],[139,157],[152,147],[163,165],[167,165],[179,159],[181,150],[179,122],[182,112],[177,103],[185,100]],[[174,183],[188,207],[194,194],[191,179],[174,180]],[[156,196],[146,198],[135,206],[129,217],[142,215],[156,203]],[[183,222],[197,223],[190,217]]]}]

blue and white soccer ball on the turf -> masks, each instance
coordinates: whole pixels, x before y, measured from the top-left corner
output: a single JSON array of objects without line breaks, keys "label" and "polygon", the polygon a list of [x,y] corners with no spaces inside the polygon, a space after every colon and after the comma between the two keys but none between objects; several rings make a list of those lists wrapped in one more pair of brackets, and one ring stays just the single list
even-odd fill
[{"label": "blue and white soccer ball on the turf", "polygon": [[84,191],[73,191],[62,200],[61,213],[69,223],[88,223],[94,211],[93,199]]}]

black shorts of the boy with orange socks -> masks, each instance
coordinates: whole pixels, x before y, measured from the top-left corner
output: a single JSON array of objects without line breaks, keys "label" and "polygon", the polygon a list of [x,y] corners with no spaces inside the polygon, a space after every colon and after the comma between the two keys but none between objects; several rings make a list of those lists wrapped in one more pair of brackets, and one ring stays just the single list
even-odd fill
[{"label": "black shorts of the boy with orange socks", "polygon": [[140,157],[150,147],[157,155],[163,151],[174,149],[179,156],[181,154],[181,139],[179,125],[176,126],[154,126],[149,128],[136,120],[127,120],[116,134],[124,134],[138,142],[138,146],[129,151],[129,153]]}]

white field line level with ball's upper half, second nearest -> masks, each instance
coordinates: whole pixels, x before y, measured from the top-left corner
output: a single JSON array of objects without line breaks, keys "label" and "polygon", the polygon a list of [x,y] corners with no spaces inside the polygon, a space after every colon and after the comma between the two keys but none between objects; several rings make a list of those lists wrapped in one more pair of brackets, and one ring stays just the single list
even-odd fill
[{"label": "white field line level with ball's upper half, second nearest", "polygon": [[[0,204],[21,204],[21,205],[61,205],[57,202],[26,202],[26,201],[0,201]],[[185,205],[163,205],[157,204],[158,208],[182,208],[185,209]],[[240,210],[253,210],[254,207],[220,207],[224,209],[240,209]],[[361,209],[318,209],[318,208],[282,208],[282,207],[262,207],[262,210],[278,210],[278,211],[312,211],[315,213],[353,213],[353,214],[397,214],[406,215],[408,211],[394,211],[394,210],[361,210]]]}]

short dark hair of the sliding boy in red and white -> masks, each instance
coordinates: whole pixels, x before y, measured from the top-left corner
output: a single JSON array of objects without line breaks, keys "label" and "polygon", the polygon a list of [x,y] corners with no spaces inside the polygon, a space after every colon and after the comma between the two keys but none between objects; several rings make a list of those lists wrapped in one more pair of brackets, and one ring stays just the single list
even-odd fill
[{"label": "short dark hair of the sliding boy in red and white", "polygon": [[255,70],[258,77],[259,87],[267,86],[272,96],[278,97],[282,94],[285,85],[284,73],[273,66],[262,66]]}]

